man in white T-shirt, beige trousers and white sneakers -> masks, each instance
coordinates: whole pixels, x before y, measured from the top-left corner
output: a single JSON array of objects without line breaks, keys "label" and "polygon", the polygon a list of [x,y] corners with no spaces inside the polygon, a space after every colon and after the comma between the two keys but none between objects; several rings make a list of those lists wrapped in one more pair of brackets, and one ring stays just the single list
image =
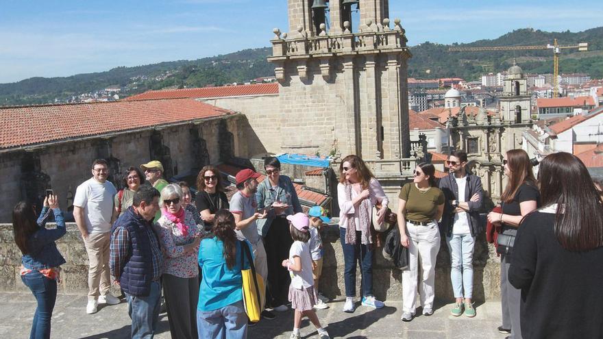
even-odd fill
[{"label": "man in white T-shirt, beige trousers and white sneakers", "polygon": [[107,181],[109,167],[97,159],[90,179],[77,186],[73,199],[73,216],[84,239],[90,266],[88,268],[88,304],[86,313],[97,312],[98,303],[114,305],[119,299],[109,293],[109,246],[113,197],[117,190]]}]

